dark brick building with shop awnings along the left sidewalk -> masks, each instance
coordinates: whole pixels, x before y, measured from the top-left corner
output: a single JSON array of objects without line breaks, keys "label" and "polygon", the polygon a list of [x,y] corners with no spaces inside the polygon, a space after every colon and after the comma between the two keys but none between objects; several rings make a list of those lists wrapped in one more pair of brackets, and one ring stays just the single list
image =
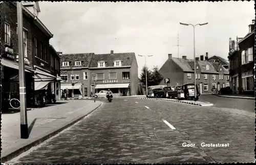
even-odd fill
[{"label": "dark brick building with shop awnings along the left sidewalk", "polygon": [[[37,18],[40,12],[38,2],[23,2],[23,46],[26,78],[26,100],[27,106],[34,106],[37,98],[37,89],[51,88],[56,84],[57,77],[50,70],[50,45],[49,39],[52,34]],[[1,77],[2,77],[2,99],[12,99],[12,93],[19,93],[18,81],[18,35],[17,35],[17,7],[15,2],[3,2],[1,10]],[[33,11],[33,13],[31,12]],[[41,40],[41,45],[35,45],[35,36]],[[40,47],[41,46],[41,47]],[[53,48],[52,48],[53,49]],[[41,51],[39,51],[41,50]],[[41,54],[45,60],[36,59]],[[58,55],[52,53],[59,63]],[[39,61],[38,61],[39,60]],[[57,74],[58,69],[53,72]],[[48,82],[48,83],[47,83]],[[50,83],[51,82],[51,83]],[[53,82],[53,85],[51,85]],[[50,84],[50,86],[49,86]],[[55,87],[56,88],[56,87]],[[56,93],[57,94],[57,93]],[[8,107],[7,107],[8,108]]]}]

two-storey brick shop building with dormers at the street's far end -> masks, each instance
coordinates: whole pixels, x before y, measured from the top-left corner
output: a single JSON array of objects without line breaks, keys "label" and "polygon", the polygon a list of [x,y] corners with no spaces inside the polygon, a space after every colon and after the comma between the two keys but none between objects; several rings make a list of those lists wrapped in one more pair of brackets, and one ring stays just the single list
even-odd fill
[{"label": "two-storey brick shop building with dormers at the street's far end", "polygon": [[[90,97],[91,92],[97,93],[108,89],[111,89],[114,96],[136,95],[138,65],[134,53],[111,51],[110,54],[90,53],[84,55],[86,56],[74,55],[72,58],[71,55],[61,56],[62,65],[65,65],[61,66],[61,79],[69,82],[61,83],[61,89],[68,88],[69,97]],[[79,64],[81,61],[82,67],[79,69],[68,68],[67,62],[70,59],[74,59],[73,62]],[[74,86],[72,83],[75,83]],[[74,93],[74,95],[70,93]]]}]

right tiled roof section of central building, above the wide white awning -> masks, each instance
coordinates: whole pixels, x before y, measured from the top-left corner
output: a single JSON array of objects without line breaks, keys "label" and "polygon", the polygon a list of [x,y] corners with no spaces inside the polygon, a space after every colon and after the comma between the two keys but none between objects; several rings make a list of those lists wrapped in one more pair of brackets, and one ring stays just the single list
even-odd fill
[{"label": "right tiled roof section of central building, above the wide white awning", "polygon": [[114,61],[121,60],[122,66],[131,66],[135,53],[114,53],[114,54],[95,54],[92,57],[90,67],[98,67],[99,61],[105,61],[106,67],[114,66]]}]

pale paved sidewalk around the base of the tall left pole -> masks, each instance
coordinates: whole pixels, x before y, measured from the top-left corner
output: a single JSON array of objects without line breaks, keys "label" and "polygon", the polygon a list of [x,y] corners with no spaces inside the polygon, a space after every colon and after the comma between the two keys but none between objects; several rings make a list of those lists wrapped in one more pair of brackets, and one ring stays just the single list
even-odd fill
[{"label": "pale paved sidewalk around the base of the tall left pole", "polygon": [[20,138],[20,113],[2,114],[2,162],[29,150],[70,127],[101,105],[92,100],[58,101],[52,106],[27,111],[29,138]]}]

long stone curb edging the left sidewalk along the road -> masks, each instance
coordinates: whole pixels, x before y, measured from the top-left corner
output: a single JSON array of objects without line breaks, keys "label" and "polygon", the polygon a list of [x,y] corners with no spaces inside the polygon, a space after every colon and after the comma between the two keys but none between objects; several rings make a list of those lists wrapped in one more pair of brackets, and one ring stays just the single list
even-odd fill
[{"label": "long stone curb edging the left sidewalk along the road", "polygon": [[70,126],[74,125],[75,123],[77,123],[78,121],[82,120],[84,117],[86,117],[86,116],[89,115],[90,113],[92,113],[94,110],[96,110],[97,108],[99,108],[101,105],[102,105],[102,102],[100,103],[99,106],[97,106],[96,108],[94,108],[93,110],[91,110],[89,113],[84,114],[84,115],[82,115],[81,117],[78,117],[78,118],[76,118],[76,119],[73,119],[73,120],[72,120],[70,123],[68,123],[67,125],[65,125],[65,126],[63,126],[63,127],[61,127],[61,128],[57,128],[57,129],[55,129],[53,132],[51,132],[51,133],[49,133],[49,134],[47,134],[47,135],[45,135],[45,136],[43,136],[43,137],[41,137],[41,138],[35,140],[34,142],[32,142],[32,143],[30,143],[30,144],[28,144],[28,145],[26,145],[26,146],[24,146],[24,147],[22,147],[22,148],[19,148],[18,150],[14,151],[14,152],[12,152],[12,153],[10,153],[10,154],[4,156],[4,157],[1,157],[2,163],[3,163],[3,162],[7,162],[7,161],[9,161],[9,160],[11,160],[11,159],[17,157],[18,155],[20,155],[20,154],[22,154],[22,153],[28,151],[28,150],[31,149],[32,147],[35,147],[35,146],[39,145],[40,143],[42,143],[42,142],[44,142],[45,140],[51,138],[52,136],[58,134],[59,132],[65,130],[65,129],[67,129],[67,128],[69,128]]}]

